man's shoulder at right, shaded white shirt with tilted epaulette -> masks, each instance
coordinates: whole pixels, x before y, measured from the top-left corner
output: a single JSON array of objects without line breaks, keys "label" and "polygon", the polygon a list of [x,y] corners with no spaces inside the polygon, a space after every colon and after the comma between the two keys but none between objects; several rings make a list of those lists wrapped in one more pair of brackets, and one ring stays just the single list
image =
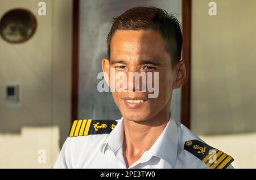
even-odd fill
[{"label": "man's shoulder at right, shaded white shirt with tilted epaulette", "polygon": [[191,168],[232,168],[234,159],[225,152],[208,145],[183,124],[176,123],[179,133],[178,160]]}]

